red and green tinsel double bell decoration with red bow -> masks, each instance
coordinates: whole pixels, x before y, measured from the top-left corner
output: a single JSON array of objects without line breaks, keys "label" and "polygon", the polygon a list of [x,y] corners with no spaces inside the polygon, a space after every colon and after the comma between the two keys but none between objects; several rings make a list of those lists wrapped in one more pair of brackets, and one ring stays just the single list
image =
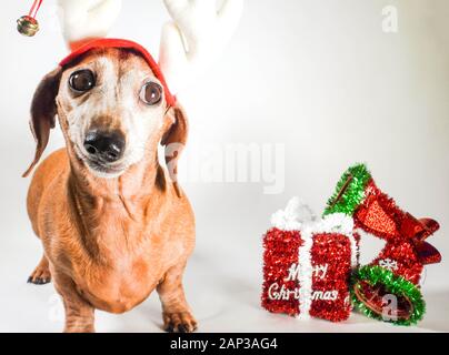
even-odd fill
[{"label": "red and green tinsel double bell decoration with red bow", "polygon": [[420,321],[425,313],[419,285],[423,267],[441,261],[440,253],[426,240],[439,224],[401,210],[376,185],[365,164],[343,173],[325,211],[325,215],[333,213],[352,216],[355,233],[386,241],[380,254],[353,274],[351,293],[357,308],[400,325]]}]

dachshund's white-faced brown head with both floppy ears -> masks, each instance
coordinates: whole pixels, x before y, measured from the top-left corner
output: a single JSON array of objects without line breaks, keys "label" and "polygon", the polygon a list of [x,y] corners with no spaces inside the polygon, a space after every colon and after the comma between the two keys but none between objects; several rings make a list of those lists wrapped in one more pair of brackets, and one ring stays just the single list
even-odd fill
[{"label": "dachshund's white-faced brown head with both floppy ears", "polygon": [[[76,159],[96,176],[120,176],[160,142],[166,160],[177,160],[186,115],[148,52],[136,45],[91,44],[43,78],[31,105],[37,151],[24,175],[38,163],[56,115]],[[176,179],[173,163],[169,171]]]}]

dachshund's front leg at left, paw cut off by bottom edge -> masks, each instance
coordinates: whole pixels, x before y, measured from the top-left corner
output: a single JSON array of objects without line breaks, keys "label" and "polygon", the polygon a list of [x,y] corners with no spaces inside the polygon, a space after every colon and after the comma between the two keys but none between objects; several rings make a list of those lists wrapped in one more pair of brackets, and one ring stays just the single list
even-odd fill
[{"label": "dachshund's front leg at left, paw cut off by bottom edge", "polygon": [[73,281],[53,272],[53,282],[66,310],[64,333],[94,333],[94,308],[80,296]]}]

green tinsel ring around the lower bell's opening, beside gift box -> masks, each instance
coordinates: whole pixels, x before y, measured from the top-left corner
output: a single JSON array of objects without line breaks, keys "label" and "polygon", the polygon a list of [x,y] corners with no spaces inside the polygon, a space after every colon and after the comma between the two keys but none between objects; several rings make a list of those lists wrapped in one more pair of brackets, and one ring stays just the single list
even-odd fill
[{"label": "green tinsel ring around the lower bell's opening, beside gift box", "polygon": [[391,271],[378,265],[362,266],[352,275],[351,297],[355,306],[368,317],[383,321],[380,314],[377,314],[376,312],[368,308],[357,297],[353,285],[356,285],[358,281],[366,281],[372,286],[383,284],[387,292],[393,295],[406,296],[412,303],[413,312],[410,314],[410,317],[408,320],[398,320],[391,323],[396,325],[412,325],[422,320],[426,313],[426,303],[422,298],[421,292],[419,291],[417,285],[407,281],[402,276],[395,275]]}]

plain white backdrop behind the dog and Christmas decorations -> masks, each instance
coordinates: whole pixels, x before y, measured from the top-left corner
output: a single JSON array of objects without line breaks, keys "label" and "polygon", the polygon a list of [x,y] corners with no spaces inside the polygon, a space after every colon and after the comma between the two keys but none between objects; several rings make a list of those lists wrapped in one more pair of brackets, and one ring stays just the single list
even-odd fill
[{"label": "plain white backdrop behind the dog and Christmas decorations", "polygon": [[[26,213],[33,155],[29,104],[41,77],[67,52],[54,1],[46,0],[41,32],[20,37],[14,21],[30,1],[0,11],[0,331],[59,332],[53,286],[26,283],[41,246]],[[111,37],[137,40],[157,55],[168,20],[162,1],[124,1]],[[399,32],[381,29],[385,6],[399,11]],[[184,159],[229,143],[286,145],[285,190],[260,183],[183,184],[196,210],[198,243],[186,275],[201,332],[449,331],[446,260],[427,267],[428,314],[402,328],[353,315],[343,324],[299,322],[259,306],[261,236],[269,216],[299,195],[320,212],[340,174],[367,162],[380,187],[441,230],[430,242],[449,255],[449,3],[445,0],[246,0],[238,33],[213,68],[179,98],[191,136]],[[63,144],[54,130],[48,152]],[[202,150],[201,150],[202,148]],[[208,151],[209,150],[209,151]],[[370,242],[363,260],[376,255]],[[98,312],[99,332],[160,332],[160,305],[124,315]]]}]

